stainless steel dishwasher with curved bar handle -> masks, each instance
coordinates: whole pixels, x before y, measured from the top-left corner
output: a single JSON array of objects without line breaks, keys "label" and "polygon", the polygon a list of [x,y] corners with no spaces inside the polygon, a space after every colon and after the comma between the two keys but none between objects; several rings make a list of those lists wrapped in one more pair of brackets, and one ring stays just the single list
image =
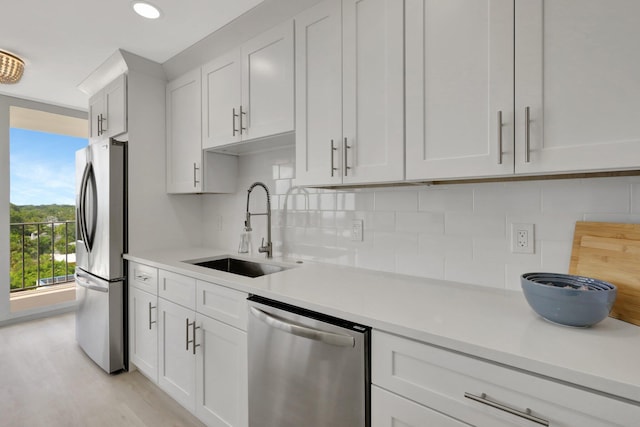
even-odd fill
[{"label": "stainless steel dishwasher with curved bar handle", "polygon": [[369,427],[371,328],[249,297],[249,426]]}]

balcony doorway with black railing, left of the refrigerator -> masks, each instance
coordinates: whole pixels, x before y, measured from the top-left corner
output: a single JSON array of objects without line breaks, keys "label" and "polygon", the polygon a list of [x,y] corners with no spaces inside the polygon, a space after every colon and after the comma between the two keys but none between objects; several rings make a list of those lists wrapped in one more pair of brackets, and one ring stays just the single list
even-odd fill
[{"label": "balcony doorway with black railing, left of the refrigerator", "polygon": [[10,310],[75,299],[75,152],[87,120],[10,108]]}]

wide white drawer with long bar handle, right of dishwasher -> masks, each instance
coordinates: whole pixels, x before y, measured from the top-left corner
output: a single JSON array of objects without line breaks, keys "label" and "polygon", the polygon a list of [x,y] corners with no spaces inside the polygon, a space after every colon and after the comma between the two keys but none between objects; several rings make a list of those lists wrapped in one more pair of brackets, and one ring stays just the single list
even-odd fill
[{"label": "wide white drawer with long bar handle, right of dishwasher", "polygon": [[372,382],[479,427],[545,425],[513,413],[527,408],[554,427],[640,419],[638,406],[380,331],[372,336]]}]

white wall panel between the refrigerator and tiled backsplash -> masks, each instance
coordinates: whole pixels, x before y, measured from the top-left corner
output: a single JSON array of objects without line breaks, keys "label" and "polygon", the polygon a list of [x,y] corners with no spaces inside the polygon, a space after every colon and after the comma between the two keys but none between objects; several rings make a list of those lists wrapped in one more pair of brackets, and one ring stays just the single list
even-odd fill
[{"label": "white wall panel between the refrigerator and tiled backsplash", "polygon": [[202,201],[165,185],[165,80],[130,70],[129,251],[199,246]]}]

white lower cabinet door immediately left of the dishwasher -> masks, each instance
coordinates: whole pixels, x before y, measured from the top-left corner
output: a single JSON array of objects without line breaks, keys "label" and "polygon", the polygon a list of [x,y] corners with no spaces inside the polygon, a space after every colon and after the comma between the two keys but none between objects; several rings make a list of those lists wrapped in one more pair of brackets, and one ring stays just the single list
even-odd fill
[{"label": "white lower cabinet door immediately left of the dishwasher", "polygon": [[201,332],[196,354],[196,415],[208,426],[245,427],[247,406],[247,334],[197,315]]}]

